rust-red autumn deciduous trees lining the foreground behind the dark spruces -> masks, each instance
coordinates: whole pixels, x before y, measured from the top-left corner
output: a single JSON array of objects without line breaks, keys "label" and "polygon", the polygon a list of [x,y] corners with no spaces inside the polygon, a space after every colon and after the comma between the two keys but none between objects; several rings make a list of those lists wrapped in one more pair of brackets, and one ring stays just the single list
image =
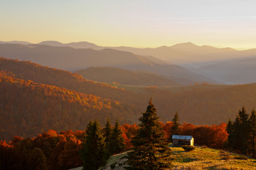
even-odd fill
[{"label": "rust-red autumn deciduous trees lining the foreground behind the dark spruces", "polygon": [[[101,126],[103,125],[101,124]],[[160,122],[160,125],[164,129],[166,140],[168,140],[172,135],[170,129],[173,122],[167,122],[166,124]],[[112,126],[110,125],[110,127]],[[124,150],[131,148],[131,139],[137,135],[138,128],[137,124],[119,126],[122,131],[122,138],[125,141]],[[223,148],[228,139],[226,124],[195,126],[184,123],[180,128],[181,135],[193,135],[195,144],[198,145]],[[85,129],[86,127],[84,127],[84,130],[67,130],[59,133],[55,130],[48,130],[47,133],[43,132],[34,138],[15,136],[10,142],[1,141],[0,168],[35,169],[35,167],[40,166],[42,169],[69,169],[79,167],[82,165],[79,150],[81,143],[85,142]],[[102,128],[101,131],[104,134],[106,127]]]}]

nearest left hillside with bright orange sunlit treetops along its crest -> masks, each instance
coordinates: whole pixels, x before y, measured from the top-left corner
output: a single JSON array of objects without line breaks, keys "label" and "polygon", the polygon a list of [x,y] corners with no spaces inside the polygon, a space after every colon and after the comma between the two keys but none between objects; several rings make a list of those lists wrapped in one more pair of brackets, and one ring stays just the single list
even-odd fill
[{"label": "nearest left hillside with bright orange sunlit treetops along its crest", "polygon": [[90,119],[134,123],[137,107],[30,80],[0,76],[0,139],[34,137],[48,129],[84,130]]}]

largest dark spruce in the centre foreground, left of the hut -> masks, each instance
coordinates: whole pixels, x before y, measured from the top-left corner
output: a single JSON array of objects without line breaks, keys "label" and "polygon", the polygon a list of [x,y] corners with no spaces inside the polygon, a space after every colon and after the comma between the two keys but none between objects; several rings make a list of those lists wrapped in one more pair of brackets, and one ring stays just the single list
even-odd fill
[{"label": "largest dark spruce in the centre foreground, left of the hut", "polygon": [[125,169],[170,169],[171,149],[164,138],[164,130],[150,99],[145,113],[139,121],[137,136],[131,140],[133,147],[127,155]]}]

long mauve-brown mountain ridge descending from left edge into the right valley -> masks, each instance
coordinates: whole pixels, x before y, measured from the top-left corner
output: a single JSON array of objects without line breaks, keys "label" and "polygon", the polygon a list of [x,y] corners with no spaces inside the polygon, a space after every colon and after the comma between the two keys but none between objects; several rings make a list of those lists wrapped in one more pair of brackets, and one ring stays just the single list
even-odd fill
[{"label": "long mauve-brown mountain ridge descending from left edge into the right valley", "polygon": [[195,82],[218,83],[177,65],[156,63],[146,57],[114,49],[93,50],[74,49],[67,46],[0,44],[0,55],[68,71],[91,66],[110,66],[133,71],[151,71],[184,85]]}]

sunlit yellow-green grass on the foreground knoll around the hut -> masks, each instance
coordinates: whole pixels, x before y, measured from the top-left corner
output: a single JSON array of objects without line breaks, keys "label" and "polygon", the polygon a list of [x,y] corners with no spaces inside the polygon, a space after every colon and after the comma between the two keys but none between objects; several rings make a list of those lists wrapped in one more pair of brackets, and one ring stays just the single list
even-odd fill
[{"label": "sunlit yellow-green grass on the foreground knoll around the hut", "polygon": [[[226,152],[223,150],[217,150],[208,147],[196,146],[195,150],[190,152],[184,151],[181,147],[173,147],[172,144],[169,145],[172,150],[173,158],[172,165],[174,166],[172,170],[175,169],[256,169],[256,159],[248,158],[247,160],[239,160],[242,155],[234,154],[231,152]],[[110,164],[114,162],[121,163],[125,159],[121,159],[125,156],[127,152],[122,154],[113,155],[108,164],[106,165],[106,170],[111,170]],[[224,156],[229,155],[229,159],[223,159]],[[73,170],[80,170],[79,168],[74,168]],[[118,164],[114,168],[115,170],[124,169],[123,165]]]}]

